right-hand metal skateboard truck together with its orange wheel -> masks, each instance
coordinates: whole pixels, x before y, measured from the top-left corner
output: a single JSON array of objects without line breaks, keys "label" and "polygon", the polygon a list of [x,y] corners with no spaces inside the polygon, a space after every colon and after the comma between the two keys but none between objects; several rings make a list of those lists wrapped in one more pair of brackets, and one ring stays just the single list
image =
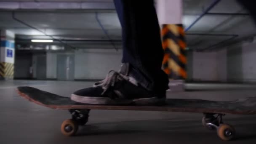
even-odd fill
[{"label": "right-hand metal skateboard truck together with its orange wheel", "polygon": [[[225,114],[203,113],[202,124],[210,130],[217,130],[218,136],[223,140],[231,140],[235,136],[235,128],[232,125],[223,123]],[[216,115],[216,116],[215,116]]]}]

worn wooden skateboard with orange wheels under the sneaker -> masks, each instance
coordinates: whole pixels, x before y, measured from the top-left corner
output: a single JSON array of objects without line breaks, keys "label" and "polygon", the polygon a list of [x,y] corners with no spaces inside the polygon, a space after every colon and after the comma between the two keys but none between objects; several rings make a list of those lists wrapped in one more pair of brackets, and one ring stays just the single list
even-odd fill
[{"label": "worn wooden skateboard with orange wheels under the sneaker", "polygon": [[52,109],[67,109],[71,119],[61,124],[61,133],[65,136],[74,136],[79,125],[88,122],[91,109],[109,110],[139,110],[139,111],[168,111],[168,112],[197,112],[203,113],[202,124],[205,128],[216,130],[222,140],[231,140],[235,137],[235,128],[224,123],[226,114],[253,115],[256,114],[256,97],[237,99],[235,101],[208,101],[202,99],[166,99],[165,104],[150,105],[91,105],[70,100],[69,97],[59,96],[32,87],[18,87],[20,96],[44,107]]}]

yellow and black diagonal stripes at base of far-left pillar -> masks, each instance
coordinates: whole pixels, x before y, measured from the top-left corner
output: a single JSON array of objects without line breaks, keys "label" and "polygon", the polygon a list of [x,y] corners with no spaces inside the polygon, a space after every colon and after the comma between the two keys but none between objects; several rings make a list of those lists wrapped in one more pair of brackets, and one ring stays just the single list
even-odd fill
[{"label": "yellow and black diagonal stripes at base of far-left pillar", "polygon": [[14,64],[0,62],[0,79],[12,79],[14,73]]}]

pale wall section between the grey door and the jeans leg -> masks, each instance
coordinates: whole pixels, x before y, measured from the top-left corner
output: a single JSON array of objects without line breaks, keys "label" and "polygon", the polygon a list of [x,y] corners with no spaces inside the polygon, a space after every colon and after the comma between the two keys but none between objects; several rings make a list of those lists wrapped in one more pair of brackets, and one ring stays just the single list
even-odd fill
[{"label": "pale wall section between the grey door and the jeans leg", "polygon": [[103,79],[109,70],[119,70],[122,51],[83,49],[75,51],[75,79]]}]

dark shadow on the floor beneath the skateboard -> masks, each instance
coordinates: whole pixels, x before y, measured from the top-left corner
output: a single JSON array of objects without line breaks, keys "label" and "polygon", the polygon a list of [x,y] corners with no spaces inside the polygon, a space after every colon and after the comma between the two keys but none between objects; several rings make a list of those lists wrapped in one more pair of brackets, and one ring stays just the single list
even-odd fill
[{"label": "dark shadow on the floor beneath the skateboard", "polygon": [[[254,120],[253,120],[254,119]],[[238,117],[228,119],[227,123],[235,126],[237,136],[235,141],[255,139],[256,140],[256,116],[250,117]],[[250,122],[251,123],[248,123]],[[118,135],[118,134],[143,134],[143,133],[169,133],[170,135],[193,134],[198,136],[215,135],[216,131],[209,131],[203,128],[200,120],[175,120],[163,119],[163,120],[137,120],[137,121],[124,121],[117,123],[96,123],[88,124],[80,127],[77,136],[97,136],[97,135]],[[184,134],[182,134],[184,133]]]}]

